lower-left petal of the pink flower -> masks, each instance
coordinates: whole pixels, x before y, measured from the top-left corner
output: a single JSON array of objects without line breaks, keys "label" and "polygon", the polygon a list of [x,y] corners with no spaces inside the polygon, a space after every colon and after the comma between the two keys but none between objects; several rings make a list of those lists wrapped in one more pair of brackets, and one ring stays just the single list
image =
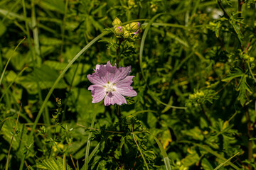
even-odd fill
[{"label": "lower-left petal of the pink flower", "polygon": [[92,91],[92,103],[98,103],[106,96],[106,91],[103,86],[91,85],[88,90]]}]

